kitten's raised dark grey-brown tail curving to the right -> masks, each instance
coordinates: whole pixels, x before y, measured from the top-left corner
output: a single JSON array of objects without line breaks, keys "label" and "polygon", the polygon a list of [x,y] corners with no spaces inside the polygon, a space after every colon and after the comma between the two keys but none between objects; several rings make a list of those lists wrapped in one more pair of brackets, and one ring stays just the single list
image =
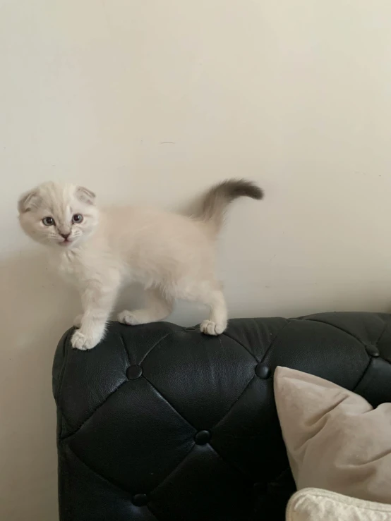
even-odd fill
[{"label": "kitten's raised dark grey-brown tail curving to the right", "polygon": [[216,234],[222,227],[229,203],[238,197],[260,200],[263,198],[263,190],[246,179],[222,181],[207,191],[203,197],[200,212],[195,215],[195,218],[209,224],[212,233]]}]

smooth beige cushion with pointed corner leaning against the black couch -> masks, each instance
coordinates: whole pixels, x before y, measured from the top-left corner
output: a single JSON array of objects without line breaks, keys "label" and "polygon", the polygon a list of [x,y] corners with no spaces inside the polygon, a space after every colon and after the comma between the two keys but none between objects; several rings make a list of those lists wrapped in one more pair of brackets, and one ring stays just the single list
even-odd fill
[{"label": "smooth beige cushion with pointed corner leaning against the black couch", "polygon": [[391,503],[391,403],[277,367],[275,399],[297,489]]}]

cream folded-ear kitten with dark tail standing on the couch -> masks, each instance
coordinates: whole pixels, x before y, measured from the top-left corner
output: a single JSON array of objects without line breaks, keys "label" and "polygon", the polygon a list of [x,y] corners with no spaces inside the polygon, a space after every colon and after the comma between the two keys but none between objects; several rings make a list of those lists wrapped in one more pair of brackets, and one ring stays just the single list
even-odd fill
[{"label": "cream folded-ear kitten with dark tail standing on the couch", "polygon": [[38,243],[52,247],[60,271],[80,289],[83,314],[75,319],[73,348],[92,349],[104,336],[121,283],[140,282],[143,309],[123,311],[123,324],[166,318],[176,298],[203,302],[210,317],[203,333],[227,327],[227,307],[215,278],[215,238],[224,212],[236,197],[262,199],[246,180],[226,180],[211,188],[198,214],[188,217],[155,209],[99,210],[95,194],[76,185],[43,183],[20,197],[19,221]]}]

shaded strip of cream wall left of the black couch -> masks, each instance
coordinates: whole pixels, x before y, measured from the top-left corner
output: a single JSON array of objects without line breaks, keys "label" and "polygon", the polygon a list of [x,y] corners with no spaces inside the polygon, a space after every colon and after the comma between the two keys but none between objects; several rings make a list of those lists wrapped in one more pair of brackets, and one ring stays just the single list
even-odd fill
[{"label": "shaded strip of cream wall left of the black couch", "polygon": [[45,252],[2,261],[0,287],[0,519],[56,520],[52,360],[80,304]]}]

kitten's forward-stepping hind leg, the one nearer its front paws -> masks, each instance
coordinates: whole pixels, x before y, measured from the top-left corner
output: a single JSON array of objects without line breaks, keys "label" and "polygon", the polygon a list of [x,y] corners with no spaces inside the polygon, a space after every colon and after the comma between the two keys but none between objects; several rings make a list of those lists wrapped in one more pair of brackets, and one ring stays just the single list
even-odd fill
[{"label": "kitten's forward-stepping hind leg, the one nearer its front paws", "polygon": [[167,318],[173,307],[174,299],[164,295],[160,288],[149,288],[145,290],[145,307],[133,311],[123,311],[119,313],[118,320],[128,326],[149,324]]}]

